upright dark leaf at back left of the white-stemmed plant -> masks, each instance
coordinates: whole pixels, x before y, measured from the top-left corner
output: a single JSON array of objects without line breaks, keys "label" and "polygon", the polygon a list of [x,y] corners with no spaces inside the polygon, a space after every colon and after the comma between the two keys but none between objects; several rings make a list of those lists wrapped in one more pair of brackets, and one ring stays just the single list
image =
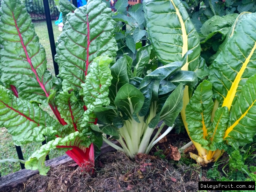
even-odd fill
[{"label": "upright dark leaf at back left of the white-stemmed plant", "polygon": [[[127,56],[128,57],[128,56]],[[113,77],[111,81],[111,86],[109,87],[109,98],[112,106],[115,106],[115,98],[119,89],[129,83],[129,78],[127,74],[127,59],[126,57],[120,58],[115,64],[110,68],[111,75]]]}]

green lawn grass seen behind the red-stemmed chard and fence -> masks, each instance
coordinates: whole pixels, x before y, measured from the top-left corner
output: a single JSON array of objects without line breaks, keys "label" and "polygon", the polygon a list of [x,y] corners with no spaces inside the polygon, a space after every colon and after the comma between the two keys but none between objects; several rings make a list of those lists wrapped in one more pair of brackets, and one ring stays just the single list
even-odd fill
[{"label": "green lawn grass seen behind the red-stemmed chard and fence", "polygon": [[[37,33],[40,39],[40,43],[44,46],[46,52],[47,69],[52,73],[53,76],[55,76],[46,21],[36,21],[33,23],[35,25],[35,32]],[[56,41],[58,35],[60,35],[61,32],[58,30],[58,26],[55,25],[54,21],[52,21],[52,28],[54,33],[54,39]],[[51,112],[49,108],[46,108],[45,111]],[[50,115],[52,115],[52,113],[50,113]],[[27,160],[34,151],[41,147],[41,145],[41,143],[30,143],[21,146],[24,160]],[[52,159],[54,157],[62,155],[63,153],[64,152],[62,151],[53,150],[49,153],[49,157],[50,159]],[[0,128],[0,156],[0,159],[18,159],[15,145],[12,141],[12,136],[9,133],[7,133],[6,128]],[[1,176],[8,175],[12,172],[17,172],[19,170],[20,163],[0,163]]]}]

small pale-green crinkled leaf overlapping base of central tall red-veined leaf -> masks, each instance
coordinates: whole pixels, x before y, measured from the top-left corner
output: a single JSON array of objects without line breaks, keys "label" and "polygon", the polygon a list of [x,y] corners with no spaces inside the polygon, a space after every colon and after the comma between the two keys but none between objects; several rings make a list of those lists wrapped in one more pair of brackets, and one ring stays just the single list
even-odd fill
[{"label": "small pale-green crinkled leaf overlapping base of central tall red-veined leaf", "polygon": [[[90,64],[90,73],[86,76],[83,87],[84,103],[87,110],[84,112],[83,126],[89,122],[90,115],[95,107],[108,106],[108,87],[111,85],[111,70],[108,65],[112,59],[108,57],[97,57]],[[95,118],[95,117],[94,117]]]}]

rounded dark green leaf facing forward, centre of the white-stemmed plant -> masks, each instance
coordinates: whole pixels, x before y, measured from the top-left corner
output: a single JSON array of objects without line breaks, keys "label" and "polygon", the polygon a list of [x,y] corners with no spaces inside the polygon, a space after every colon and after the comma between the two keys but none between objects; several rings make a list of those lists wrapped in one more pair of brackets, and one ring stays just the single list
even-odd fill
[{"label": "rounded dark green leaf facing forward, centre of the white-stemmed plant", "polygon": [[131,84],[125,84],[116,94],[115,105],[130,119],[140,111],[144,103],[144,96]]}]

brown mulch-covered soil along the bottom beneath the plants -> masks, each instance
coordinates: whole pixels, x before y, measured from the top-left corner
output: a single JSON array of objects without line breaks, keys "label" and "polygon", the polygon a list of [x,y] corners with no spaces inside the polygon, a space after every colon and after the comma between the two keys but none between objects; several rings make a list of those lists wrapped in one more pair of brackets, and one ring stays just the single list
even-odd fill
[{"label": "brown mulch-covered soil along the bottom beneath the plants", "polygon": [[135,161],[122,152],[104,154],[96,161],[93,175],[71,163],[52,168],[47,176],[35,175],[4,192],[196,192],[198,181],[208,180],[207,169],[184,156],[180,161],[169,160],[168,153],[165,159],[152,156],[159,149],[164,154],[170,143],[180,147],[189,142],[186,135],[181,135],[169,134],[167,140],[151,150],[151,155],[137,155]]}]

